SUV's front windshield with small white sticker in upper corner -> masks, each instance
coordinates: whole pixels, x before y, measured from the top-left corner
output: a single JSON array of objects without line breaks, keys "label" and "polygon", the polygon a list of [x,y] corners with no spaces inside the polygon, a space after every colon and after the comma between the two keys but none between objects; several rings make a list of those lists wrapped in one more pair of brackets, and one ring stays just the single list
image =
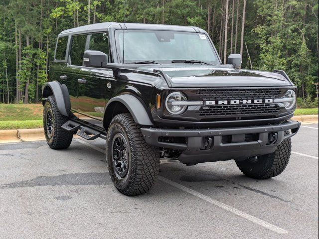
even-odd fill
[{"label": "SUV's front windshield with small white sticker in upper corner", "polygon": [[123,35],[125,35],[124,63],[197,60],[220,64],[205,34],[160,30],[125,30],[125,34],[123,30],[116,30],[116,46],[121,62],[123,62]]}]

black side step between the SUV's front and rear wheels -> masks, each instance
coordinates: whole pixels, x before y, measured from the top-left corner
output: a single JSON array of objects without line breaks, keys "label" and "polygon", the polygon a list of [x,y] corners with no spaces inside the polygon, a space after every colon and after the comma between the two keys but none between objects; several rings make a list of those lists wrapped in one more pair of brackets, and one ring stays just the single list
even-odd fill
[{"label": "black side step between the SUV's front and rear wheels", "polygon": [[93,140],[93,139],[96,139],[98,137],[106,139],[105,134],[103,134],[97,130],[94,130],[92,128],[82,126],[81,124],[79,124],[73,120],[66,121],[61,127],[63,129],[65,129],[66,131],[73,132],[73,133],[77,132],[80,129],[80,131],[77,133],[77,135],[79,135],[82,138],[87,139],[87,140]]}]

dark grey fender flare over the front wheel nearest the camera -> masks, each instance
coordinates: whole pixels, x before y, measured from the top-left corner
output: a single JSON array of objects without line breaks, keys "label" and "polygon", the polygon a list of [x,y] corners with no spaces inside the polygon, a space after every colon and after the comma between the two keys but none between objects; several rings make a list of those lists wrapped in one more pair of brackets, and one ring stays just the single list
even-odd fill
[{"label": "dark grey fender flare over the front wheel nearest the camera", "polygon": [[147,113],[146,107],[139,101],[139,99],[133,95],[124,94],[112,98],[105,107],[104,119],[108,112],[109,106],[114,103],[122,103],[131,113],[134,121],[140,125],[153,126],[150,116]]}]

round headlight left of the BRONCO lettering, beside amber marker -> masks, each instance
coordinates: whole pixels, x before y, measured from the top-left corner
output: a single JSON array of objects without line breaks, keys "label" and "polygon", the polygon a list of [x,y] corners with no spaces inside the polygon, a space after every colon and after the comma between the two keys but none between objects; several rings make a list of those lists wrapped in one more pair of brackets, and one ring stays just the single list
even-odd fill
[{"label": "round headlight left of the BRONCO lettering, beside amber marker", "polygon": [[179,105],[178,103],[186,102],[186,101],[187,101],[186,96],[182,94],[181,92],[176,91],[176,92],[170,93],[166,97],[166,101],[165,101],[166,110],[171,115],[180,115],[185,111],[187,106],[183,104]]}]

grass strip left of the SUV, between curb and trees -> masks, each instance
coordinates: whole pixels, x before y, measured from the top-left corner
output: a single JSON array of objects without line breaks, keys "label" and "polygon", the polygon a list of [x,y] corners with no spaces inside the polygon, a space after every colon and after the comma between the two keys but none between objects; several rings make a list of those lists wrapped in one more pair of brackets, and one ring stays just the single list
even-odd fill
[{"label": "grass strip left of the SUV, between curb and trees", "polygon": [[0,104],[1,121],[40,120],[42,119],[42,104]]}]

